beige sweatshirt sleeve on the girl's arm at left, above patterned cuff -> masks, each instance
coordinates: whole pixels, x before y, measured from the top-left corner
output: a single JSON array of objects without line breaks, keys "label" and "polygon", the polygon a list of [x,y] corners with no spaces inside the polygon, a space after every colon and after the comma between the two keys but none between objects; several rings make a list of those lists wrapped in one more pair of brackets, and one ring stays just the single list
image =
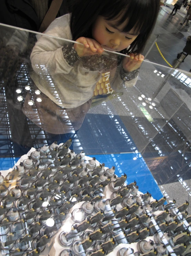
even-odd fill
[{"label": "beige sweatshirt sleeve on the girl's arm at left, above patterned cuff", "polygon": [[32,68],[37,74],[41,74],[43,67],[49,70],[50,75],[68,74],[73,68],[64,59],[62,53],[66,45],[72,45],[72,43],[61,39],[72,38],[68,18],[69,15],[64,15],[54,20],[44,32],[45,35],[41,36],[33,47],[30,59]]}]

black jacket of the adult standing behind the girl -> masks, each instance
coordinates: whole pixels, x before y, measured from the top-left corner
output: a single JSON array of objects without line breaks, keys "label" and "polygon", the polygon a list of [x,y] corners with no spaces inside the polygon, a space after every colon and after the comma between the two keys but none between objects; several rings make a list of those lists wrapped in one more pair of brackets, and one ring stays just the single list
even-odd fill
[{"label": "black jacket of the adult standing behind the girl", "polygon": [[[51,2],[52,0],[49,0],[49,7]],[[65,1],[63,1],[57,18],[66,13]],[[41,25],[36,12],[30,4],[30,0],[1,0],[0,23],[33,31],[38,31]]]}]

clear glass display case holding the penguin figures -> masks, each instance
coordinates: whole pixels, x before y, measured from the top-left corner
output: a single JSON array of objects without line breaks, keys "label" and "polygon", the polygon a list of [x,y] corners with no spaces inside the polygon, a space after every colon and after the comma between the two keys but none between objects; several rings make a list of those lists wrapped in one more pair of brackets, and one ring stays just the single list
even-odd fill
[{"label": "clear glass display case holding the penguin figures", "polygon": [[0,254],[190,255],[191,73],[84,52],[0,25]]}]

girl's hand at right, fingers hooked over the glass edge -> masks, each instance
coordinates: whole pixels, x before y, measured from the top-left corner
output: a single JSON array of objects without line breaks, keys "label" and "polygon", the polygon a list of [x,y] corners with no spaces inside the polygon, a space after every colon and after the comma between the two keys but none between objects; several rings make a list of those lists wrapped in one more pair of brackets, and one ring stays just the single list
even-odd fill
[{"label": "girl's hand at right, fingers hooked over the glass edge", "polygon": [[122,62],[123,69],[126,72],[130,72],[130,71],[140,68],[140,66],[144,60],[144,56],[141,54],[130,53],[129,56],[130,57],[124,58],[123,62]]}]

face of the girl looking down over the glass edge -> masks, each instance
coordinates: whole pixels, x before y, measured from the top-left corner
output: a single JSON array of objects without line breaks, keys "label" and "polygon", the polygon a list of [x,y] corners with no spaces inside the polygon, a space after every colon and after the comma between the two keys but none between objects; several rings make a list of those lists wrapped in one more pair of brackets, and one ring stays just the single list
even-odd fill
[{"label": "face of the girl looking down over the glass edge", "polygon": [[116,26],[116,21],[105,20],[98,16],[92,27],[92,36],[105,50],[120,52],[127,48],[138,36],[130,31],[123,33],[121,26]]}]

